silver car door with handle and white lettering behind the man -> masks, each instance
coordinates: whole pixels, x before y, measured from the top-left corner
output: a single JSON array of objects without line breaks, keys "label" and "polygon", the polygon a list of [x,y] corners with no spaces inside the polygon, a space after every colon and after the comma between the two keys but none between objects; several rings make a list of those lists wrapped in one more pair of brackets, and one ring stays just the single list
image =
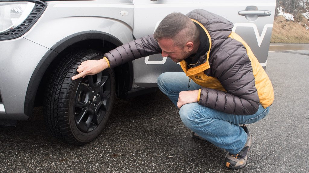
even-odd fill
[{"label": "silver car door with handle and white lettering behind the man", "polygon": [[[251,47],[262,66],[266,66],[273,28],[275,0],[210,1],[210,0],[134,0],[133,36],[153,34],[156,26],[172,12],[187,14],[194,9],[205,9],[234,24],[233,31]],[[157,86],[163,72],[181,72],[179,64],[155,54],[133,61],[134,79],[138,86]]]}]

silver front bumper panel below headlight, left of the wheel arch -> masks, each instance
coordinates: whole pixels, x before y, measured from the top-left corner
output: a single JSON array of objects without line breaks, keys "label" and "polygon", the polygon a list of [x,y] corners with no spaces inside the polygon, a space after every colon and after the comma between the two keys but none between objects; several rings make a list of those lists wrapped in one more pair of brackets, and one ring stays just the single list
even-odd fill
[{"label": "silver front bumper panel below headlight, left of the wheel arch", "polygon": [[1,41],[0,91],[5,114],[0,113],[0,119],[28,119],[23,114],[26,90],[33,70],[47,51],[23,37]]}]

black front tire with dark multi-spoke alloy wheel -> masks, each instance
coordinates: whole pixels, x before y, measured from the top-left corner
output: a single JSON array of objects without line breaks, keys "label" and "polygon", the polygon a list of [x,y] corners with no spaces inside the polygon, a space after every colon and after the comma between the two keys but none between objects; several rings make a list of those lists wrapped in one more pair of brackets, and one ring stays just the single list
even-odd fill
[{"label": "black front tire with dark multi-spoke alloy wheel", "polygon": [[53,68],[45,88],[43,111],[51,134],[58,139],[82,145],[103,131],[115,99],[113,70],[71,79],[83,61],[102,57],[97,50],[72,51],[61,56]]}]

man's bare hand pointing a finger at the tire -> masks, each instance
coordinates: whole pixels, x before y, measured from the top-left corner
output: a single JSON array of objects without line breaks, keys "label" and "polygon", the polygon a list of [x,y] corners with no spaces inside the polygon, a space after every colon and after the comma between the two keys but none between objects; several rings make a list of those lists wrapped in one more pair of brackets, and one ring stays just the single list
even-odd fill
[{"label": "man's bare hand pointing a finger at the tire", "polygon": [[87,60],[84,61],[78,66],[77,72],[79,74],[72,77],[72,80],[78,79],[80,77],[85,77],[87,75],[94,75],[98,74],[99,72],[105,70],[108,68],[108,63],[106,60],[100,59],[100,60]]}]

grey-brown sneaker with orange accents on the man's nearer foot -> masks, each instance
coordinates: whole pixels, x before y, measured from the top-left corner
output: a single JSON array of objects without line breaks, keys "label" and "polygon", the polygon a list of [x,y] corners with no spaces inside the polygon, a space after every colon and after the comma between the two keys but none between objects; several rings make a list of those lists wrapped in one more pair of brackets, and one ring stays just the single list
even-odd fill
[{"label": "grey-brown sneaker with orange accents on the man's nearer foot", "polygon": [[225,166],[231,169],[239,169],[243,168],[247,163],[247,157],[248,157],[248,151],[250,150],[253,139],[252,136],[249,133],[248,128],[246,125],[241,126],[243,127],[243,130],[248,134],[247,142],[243,149],[236,155],[232,155],[229,153],[226,158],[224,159]]}]

